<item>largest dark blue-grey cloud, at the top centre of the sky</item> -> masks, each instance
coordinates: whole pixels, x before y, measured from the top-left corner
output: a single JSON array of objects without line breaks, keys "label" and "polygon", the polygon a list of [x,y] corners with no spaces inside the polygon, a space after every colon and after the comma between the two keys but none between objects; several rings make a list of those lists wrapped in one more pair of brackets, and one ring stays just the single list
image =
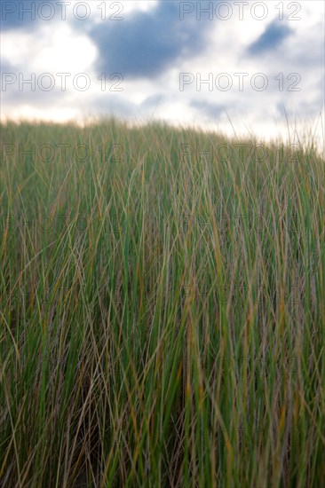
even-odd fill
[{"label": "largest dark blue-grey cloud, at the top centre of the sky", "polygon": [[[210,22],[211,24],[211,22]],[[99,71],[122,73],[129,78],[155,77],[182,56],[191,57],[206,46],[207,21],[179,20],[178,2],[160,2],[149,12],[91,31],[98,45]]]}]

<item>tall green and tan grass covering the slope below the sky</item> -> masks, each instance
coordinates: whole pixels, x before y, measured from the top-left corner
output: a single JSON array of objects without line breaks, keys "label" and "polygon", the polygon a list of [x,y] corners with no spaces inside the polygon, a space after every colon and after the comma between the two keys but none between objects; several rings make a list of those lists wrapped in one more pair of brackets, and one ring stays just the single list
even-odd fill
[{"label": "tall green and tan grass covering the slope below the sky", "polygon": [[116,121],[2,134],[1,486],[321,487],[313,145]]}]

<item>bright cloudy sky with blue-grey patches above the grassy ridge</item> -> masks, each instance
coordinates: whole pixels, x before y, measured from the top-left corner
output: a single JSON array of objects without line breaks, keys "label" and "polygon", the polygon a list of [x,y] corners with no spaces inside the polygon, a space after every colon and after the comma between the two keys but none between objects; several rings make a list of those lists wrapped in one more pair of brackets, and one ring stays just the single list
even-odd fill
[{"label": "bright cloudy sky with blue-grey patches above the grassy ridge", "polygon": [[1,9],[2,121],[115,115],[323,143],[321,0],[2,0]]}]

